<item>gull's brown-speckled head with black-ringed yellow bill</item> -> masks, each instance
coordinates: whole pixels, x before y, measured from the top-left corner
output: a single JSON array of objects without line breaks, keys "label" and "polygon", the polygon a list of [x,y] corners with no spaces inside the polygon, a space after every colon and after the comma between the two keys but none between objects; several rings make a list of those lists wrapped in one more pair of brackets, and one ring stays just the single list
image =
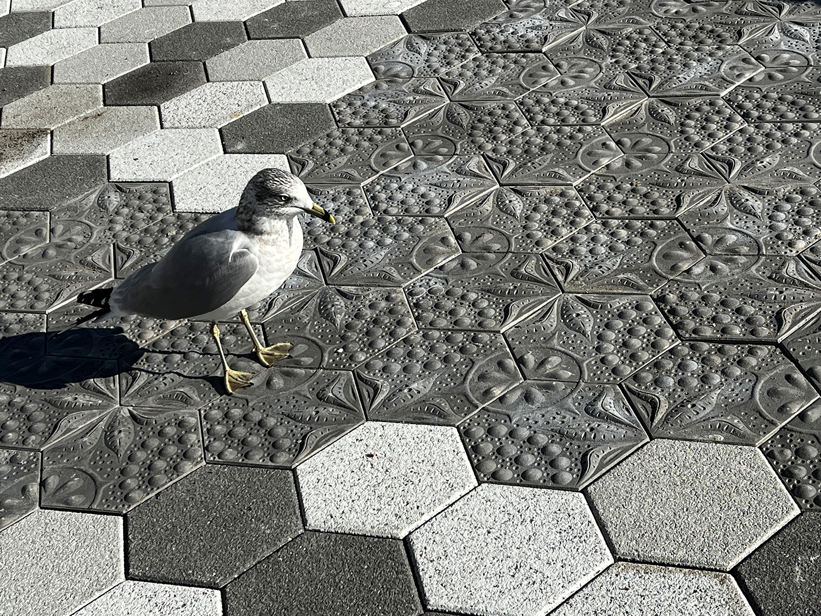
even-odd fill
[{"label": "gull's brown-speckled head with black-ringed yellow bill", "polygon": [[277,168],[257,172],[245,186],[240,205],[266,218],[291,218],[307,213],[336,223],[330,212],[314,203],[299,177]]}]

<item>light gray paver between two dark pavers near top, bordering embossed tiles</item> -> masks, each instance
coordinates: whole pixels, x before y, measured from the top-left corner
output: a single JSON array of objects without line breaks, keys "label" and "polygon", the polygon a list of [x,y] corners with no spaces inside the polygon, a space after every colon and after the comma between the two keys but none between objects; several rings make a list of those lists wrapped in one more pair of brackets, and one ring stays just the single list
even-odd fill
[{"label": "light gray paver between two dark pavers near top, bordering embossed tiles", "polygon": [[311,57],[367,56],[407,34],[395,15],[346,17],[305,37]]}]

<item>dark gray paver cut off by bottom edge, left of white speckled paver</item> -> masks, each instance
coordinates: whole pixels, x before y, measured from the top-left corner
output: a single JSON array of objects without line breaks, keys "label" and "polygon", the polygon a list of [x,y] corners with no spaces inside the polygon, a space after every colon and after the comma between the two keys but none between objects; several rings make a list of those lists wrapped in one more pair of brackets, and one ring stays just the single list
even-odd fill
[{"label": "dark gray paver cut off by bottom edge, left of white speckled paver", "polygon": [[305,532],[226,588],[227,614],[415,616],[400,540]]}]

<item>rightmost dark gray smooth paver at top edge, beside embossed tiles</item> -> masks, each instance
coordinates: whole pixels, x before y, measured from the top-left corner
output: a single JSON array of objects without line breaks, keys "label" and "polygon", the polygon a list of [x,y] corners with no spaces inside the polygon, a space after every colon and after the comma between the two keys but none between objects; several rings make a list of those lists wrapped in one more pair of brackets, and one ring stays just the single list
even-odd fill
[{"label": "rightmost dark gray smooth paver at top edge, beside embossed tiles", "polygon": [[507,11],[502,0],[433,0],[409,8],[401,16],[410,32],[447,32],[472,28],[502,11]]}]

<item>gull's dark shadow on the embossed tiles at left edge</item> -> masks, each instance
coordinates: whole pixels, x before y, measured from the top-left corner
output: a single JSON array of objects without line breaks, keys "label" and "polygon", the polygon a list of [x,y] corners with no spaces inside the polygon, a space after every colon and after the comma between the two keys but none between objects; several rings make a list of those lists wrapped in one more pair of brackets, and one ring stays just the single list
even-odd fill
[{"label": "gull's dark shadow on the embossed tiles at left edge", "polygon": [[144,355],[122,328],[72,329],[0,338],[0,382],[59,389],[87,379],[116,377]]}]

